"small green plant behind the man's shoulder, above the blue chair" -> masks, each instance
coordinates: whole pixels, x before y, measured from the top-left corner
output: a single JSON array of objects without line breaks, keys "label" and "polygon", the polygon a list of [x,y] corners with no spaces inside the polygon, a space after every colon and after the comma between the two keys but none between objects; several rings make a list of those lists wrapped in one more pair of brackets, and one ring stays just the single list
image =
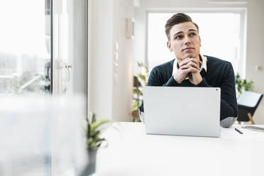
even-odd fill
[{"label": "small green plant behind the man's shoulder, above the blue chair", "polygon": [[238,94],[237,97],[239,97],[239,95],[243,91],[253,91],[253,81],[242,79],[238,73],[236,74],[235,82],[236,82],[236,91]]}]

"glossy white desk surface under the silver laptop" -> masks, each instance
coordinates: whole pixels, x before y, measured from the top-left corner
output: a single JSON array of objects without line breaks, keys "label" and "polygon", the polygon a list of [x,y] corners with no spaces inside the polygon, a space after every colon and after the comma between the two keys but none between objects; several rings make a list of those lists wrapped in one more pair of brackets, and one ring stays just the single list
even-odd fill
[{"label": "glossy white desk surface under the silver laptop", "polygon": [[[114,123],[97,155],[97,175],[264,175],[264,133],[221,128],[220,138],[146,135],[142,123]],[[263,126],[262,126],[263,127]]]}]

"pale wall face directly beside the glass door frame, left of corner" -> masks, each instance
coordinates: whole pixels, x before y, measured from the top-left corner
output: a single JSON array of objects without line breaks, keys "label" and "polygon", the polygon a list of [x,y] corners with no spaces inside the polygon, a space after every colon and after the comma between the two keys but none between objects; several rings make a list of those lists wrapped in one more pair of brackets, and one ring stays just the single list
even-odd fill
[{"label": "pale wall face directly beside the glass door frame, left of corner", "polygon": [[111,119],[113,0],[88,1],[89,111]]}]

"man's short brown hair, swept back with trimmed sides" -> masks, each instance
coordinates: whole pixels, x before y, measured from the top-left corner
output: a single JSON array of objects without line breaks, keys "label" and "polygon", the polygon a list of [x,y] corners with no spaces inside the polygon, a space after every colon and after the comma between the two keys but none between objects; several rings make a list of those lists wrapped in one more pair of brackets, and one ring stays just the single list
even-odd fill
[{"label": "man's short brown hair, swept back with trimmed sides", "polygon": [[[185,13],[176,13],[175,15],[170,17],[170,19],[168,19],[165,24],[165,33],[167,35],[167,40],[170,40],[170,29],[172,28],[172,26],[175,26],[175,24],[185,23],[185,22],[192,22],[192,18],[187,16],[187,14]],[[199,27],[197,23],[194,22],[192,23],[197,28],[197,32],[199,33]]]}]

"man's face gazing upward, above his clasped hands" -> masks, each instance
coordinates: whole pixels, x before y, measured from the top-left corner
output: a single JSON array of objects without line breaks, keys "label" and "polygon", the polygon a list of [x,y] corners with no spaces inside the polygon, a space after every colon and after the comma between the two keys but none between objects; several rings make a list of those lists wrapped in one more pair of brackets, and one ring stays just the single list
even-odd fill
[{"label": "man's face gazing upward, above his clasped hands", "polygon": [[177,61],[187,57],[199,59],[201,39],[192,22],[179,23],[170,29],[170,40],[167,48],[173,51]]}]

